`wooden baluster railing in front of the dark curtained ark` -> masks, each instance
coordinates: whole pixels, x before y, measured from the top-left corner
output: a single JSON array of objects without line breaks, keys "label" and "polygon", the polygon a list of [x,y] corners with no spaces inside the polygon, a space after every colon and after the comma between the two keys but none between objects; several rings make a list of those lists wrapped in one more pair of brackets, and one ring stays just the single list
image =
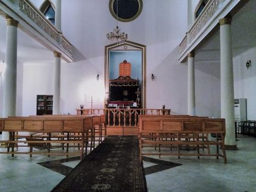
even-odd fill
[{"label": "wooden baluster railing in front of the dark curtained ark", "polygon": [[77,108],[77,115],[105,115],[107,126],[138,126],[138,115],[171,115],[159,108]]}]

